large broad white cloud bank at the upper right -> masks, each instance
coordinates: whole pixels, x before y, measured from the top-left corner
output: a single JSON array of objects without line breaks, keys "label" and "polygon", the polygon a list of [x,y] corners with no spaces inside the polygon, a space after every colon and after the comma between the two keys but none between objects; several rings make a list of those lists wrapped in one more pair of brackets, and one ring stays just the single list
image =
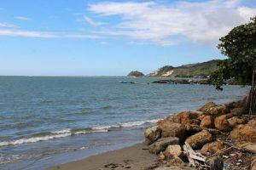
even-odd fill
[{"label": "large broad white cloud bank at the upper right", "polygon": [[143,42],[172,45],[186,40],[216,43],[234,26],[256,15],[256,8],[244,7],[241,0],[179,2],[161,5],[154,2],[94,3],[89,10],[102,17],[119,16],[115,28],[97,32],[129,37]]}]

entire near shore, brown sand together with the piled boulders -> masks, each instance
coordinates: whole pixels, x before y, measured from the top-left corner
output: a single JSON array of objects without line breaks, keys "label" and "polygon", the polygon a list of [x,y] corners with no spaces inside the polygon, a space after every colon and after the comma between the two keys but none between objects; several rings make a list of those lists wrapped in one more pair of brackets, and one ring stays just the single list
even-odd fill
[{"label": "entire near shore, brown sand together with the piled boulders", "polygon": [[[207,169],[216,166],[220,166],[219,169],[224,166],[253,169],[256,164],[249,162],[256,160],[253,157],[256,149],[249,142],[256,139],[256,118],[245,114],[246,101],[247,97],[224,105],[208,102],[198,111],[183,111],[167,116],[156,126],[145,130],[143,143],[49,169],[186,170],[204,166]],[[209,117],[211,119],[208,121]],[[196,120],[200,121],[200,126]]]}]

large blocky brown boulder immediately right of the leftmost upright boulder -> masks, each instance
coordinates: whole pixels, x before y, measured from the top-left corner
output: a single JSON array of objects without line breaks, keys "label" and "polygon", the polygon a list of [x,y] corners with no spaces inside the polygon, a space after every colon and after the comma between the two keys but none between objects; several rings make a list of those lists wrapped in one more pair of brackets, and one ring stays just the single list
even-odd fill
[{"label": "large blocky brown boulder immediately right of the leftmost upright boulder", "polygon": [[179,139],[183,139],[185,133],[185,127],[176,122],[162,122],[159,123],[159,126],[162,130],[161,136],[165,137],[177,137]]}]

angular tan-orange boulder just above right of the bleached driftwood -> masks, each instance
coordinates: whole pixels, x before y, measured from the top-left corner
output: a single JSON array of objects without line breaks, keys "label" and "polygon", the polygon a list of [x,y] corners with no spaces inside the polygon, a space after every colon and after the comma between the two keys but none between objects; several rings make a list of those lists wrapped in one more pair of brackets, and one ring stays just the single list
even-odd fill
[{"label": "angular tan-orange boulder just above right of the bleached driftwood", "polygon": [[200,149],[201,146],[212,141],[212,134],[207,130],[202,130],[200,133],[195,133],[186,139],[186,142],[190,144],[193,149]]}]

